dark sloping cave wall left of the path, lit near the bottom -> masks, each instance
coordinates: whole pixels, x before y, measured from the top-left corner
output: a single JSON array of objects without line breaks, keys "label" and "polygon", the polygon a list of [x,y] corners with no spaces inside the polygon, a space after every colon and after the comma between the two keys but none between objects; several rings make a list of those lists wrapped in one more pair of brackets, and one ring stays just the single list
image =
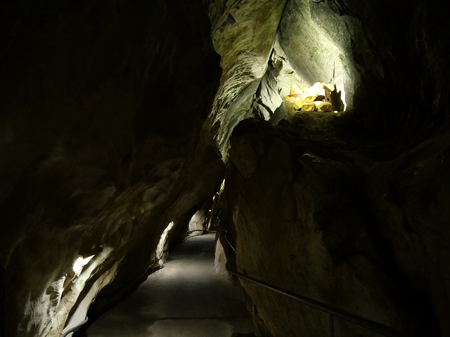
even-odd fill
[{"label": "dark sloping cave wall left of the path, lit near the bottom", "polygon": [[[59,336],[96,280],[117,268],[91,318],[145,277],[167,224],[185,228],[212,197],[222,164],[200,131],[219,57],[199,1],[6,1],[0,13],[6,336]],[[108,258],[75,277],[94,245]]]}]

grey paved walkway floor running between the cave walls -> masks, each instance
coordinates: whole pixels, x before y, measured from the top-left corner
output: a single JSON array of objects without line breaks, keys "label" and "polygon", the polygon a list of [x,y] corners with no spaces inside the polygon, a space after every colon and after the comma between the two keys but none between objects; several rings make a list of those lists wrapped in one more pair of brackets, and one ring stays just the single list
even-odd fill
[{"label": "grey paved walkway floor running between the cave walls", "polygon": [[86,331],[89,337],[231,337],[252,331],[243,296],[214,268],[214,232],[177,246],[165,267]]}]

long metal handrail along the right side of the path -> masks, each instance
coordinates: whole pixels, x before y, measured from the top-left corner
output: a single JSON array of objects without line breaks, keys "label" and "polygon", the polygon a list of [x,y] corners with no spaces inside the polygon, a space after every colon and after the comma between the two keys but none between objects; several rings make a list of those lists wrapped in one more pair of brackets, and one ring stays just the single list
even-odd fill
[{"label": "long metal handrail along the right side of the path", "polygon": [[[231,267],[231,263],[235,266]],[[314,300],[312,298],[308,298],[306,296],[298,295],[297,293],[293,293],[292,291],[288,291],[286,289],[282,289],[278,286],[274,286],[273,284],[269,284],[267,282],[261,281],[259,279],[255,279],[255,277],[250,277],[248,275],[243,274],[238,271],[236,265],[236,256],[229,259],[226,263],[226,270],[230,272],[232,275],[235,275],[241,279],[246,279],[252,283],[258,284],[266,289],[271,291],[275,291],[276,293],[281,293],[281,295],[286,296],[288,298],[292,298],[293,300],[297,300],[301,303],[309,305],[312,308],[316,308],[323,312],[327,312],[330,315],[330,336],[334,336],[334,317],[339,317],[341,319],[345,319],[348,322],[352,322],[353,324],[362,326],[368,330],[375,331],[381,333],[383,336],[388,337],[406,337],[406,333],[393,329],[390,326],[380,324],[378,322],[374,322],[371,319],[367,319],[361,317],[359,315],[354,315],[352,312],[348,312],[345,310],[341,310],[339,308],[335,308],[332,305],[328,305],[326,303],[319,302],[318,300]]]}]

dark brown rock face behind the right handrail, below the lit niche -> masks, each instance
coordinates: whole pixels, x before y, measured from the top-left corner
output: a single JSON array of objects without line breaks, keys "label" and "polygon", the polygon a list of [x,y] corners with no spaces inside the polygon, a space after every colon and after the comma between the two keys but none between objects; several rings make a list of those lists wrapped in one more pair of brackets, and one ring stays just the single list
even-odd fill
[{"label": "dark brown rock face behind the right handrail, below the lit niche", "polygon": [[[378,161],[364,145],[293,142],[282,128],[241,122],[231,138],[224,219],[236,233],[238,267],[407,336],[437,336],[439,324],[445,336],[449,268],[439,261],[450,253],[447,138]],[[327,315],[242,283],[262,336],[327,333]],[[378,336],[339,319],[336,329]]]}]

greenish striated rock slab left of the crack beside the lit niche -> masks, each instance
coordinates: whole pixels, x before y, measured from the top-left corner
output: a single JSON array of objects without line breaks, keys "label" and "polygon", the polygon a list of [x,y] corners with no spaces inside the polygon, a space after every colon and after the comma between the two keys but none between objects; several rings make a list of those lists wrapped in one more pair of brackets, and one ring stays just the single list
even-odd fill
[{"label": "greenish striated rock slab left of the crack beside the lit niche", "polygon": [[[211,1],[212,41],[221,55],[223,72],[208,122],[224,159],[234,126],[251,116],[252,98],[266,72],[285,3]],[[236,19],[235,25],[226,22],[229,13]]]}]

